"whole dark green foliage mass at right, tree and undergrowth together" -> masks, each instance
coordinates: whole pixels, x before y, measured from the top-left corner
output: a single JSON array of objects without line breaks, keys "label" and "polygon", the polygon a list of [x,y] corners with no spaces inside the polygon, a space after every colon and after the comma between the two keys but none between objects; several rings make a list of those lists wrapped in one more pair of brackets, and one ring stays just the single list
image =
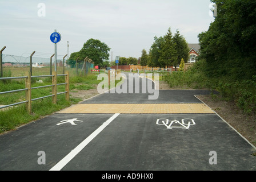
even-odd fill
[{"label": "whole dark green foliage mass at right, tree and undergrowth together", "polygon": [[256,2],[212,0],[217,17],[209,30],[198,35],[202,70],[207,82],[215,81],[222,98],[244,113],[256,111]]}]

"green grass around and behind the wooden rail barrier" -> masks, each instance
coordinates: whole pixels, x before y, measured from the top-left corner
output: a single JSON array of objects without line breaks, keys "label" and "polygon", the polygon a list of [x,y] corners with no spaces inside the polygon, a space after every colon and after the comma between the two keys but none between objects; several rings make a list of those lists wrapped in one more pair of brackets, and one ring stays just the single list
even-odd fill
[{"label": "green grass around and behind the wooden rail barrier", "polygon": [[[33,68],[34,69],[34,68]],[[11,68],[6,71],[8,77],[11,76],[24,76],[27,68]],[[34,70],[33,70],[34,71]],[[33,75],[49,75],[49,68],[38,68]],[[69,69],[70,72],[70,92],[74,89],[78,90],[89,90],[96,88],[95,85],[99,84],[101,80],[97,80],[97,74],[92,73],[87,76],[77,76],[75,69]],[[62,74],[61,71],[59,71]],[[5,76],[5,77],[7,77]],[[37,80],[43,80],[43,84],[37,83]],[[65,82],[65,77],[58,76],[57,82]],[[34,78],[31,87],[51,85],[51,78]],[[8,80],[0,81],[0,92],[8,90],[17,90],[25,88],[25,79],[21,80]],[[39,98],[43,96],[49,96],[51,94],[51,87],[39,88],[31,90],[31,98]],[[65,85],[57,86],[58,92],[65,91]],[[25,91],[0,94],[0,105],[14,104],[15,102],[25,101]],[[0,133],[5,131],[13,130],[15,127],[23,125],[25,123],[34,121],[38,118],[52,114],[55,111],[69,107],[72,104],[77,104],[81,99],[71,98],[69,101],[65,100],[65,94],[57,96],[57,104],[52,103],[52,98],[43,98],[32,102],[32,114],[28,114],[26,111],[25,104],[9,107],[4,110],[0,110]]]}]

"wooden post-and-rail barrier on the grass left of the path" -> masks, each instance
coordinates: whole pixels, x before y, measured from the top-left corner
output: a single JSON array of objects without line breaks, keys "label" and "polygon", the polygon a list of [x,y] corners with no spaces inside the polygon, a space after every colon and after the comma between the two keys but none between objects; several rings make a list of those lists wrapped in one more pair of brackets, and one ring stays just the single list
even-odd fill
[{"label": "wooden post-and-rail barrier on the grass left of the path", "polygon": [[[58,76],[65,76],[65,82],[61,83],[61,84],[57,84],[57,77]],[[44,86],[37,86],[37,87],[31,88],[31,78],[38,78],[38,77],[52,77],[52,84],[51,85],[44,85]],[[41,76],[30,76],[30,73],[27,73],[27,76],[4,77],[4,78],[0,77],[0,80],[22,79],[22,78],[26,79],[25,80],[25,89],[10,90],[10,91],[6,91],[6,92],[0,92],[0,94],[26,91],[25,101],[17,102],[17,103],[14,103],[14,104],[9,104],[9,105],[5,105],[5,106],[1,106],[0,109],[3,109],[5,107],[10,107],[10,106],[15,106],[15,105],[26,103],[26,110],[29,114],[31,114],[31,102],[32,101],[39,100],[39,99],[42,99],[42,98],[52,97],[53,104],[56,104],[57,103],[57,95],[64,94],[64,93],[66,94],[66,100],[69,101],[69,72],[66,72],[66,74],[62,74],[62,75],[57,75],[56,72],[53,72],[53,75],[41,75]],[[65,92],[57,93],[57,86],[58,85],[66,85]],[[49,96],[43,96],[43,97],[31,99],[31,90],[39,89],[39,88],[46,88],[46,87],[50,87],[50,86],[52,87],[52,94],[50,94]]]}]

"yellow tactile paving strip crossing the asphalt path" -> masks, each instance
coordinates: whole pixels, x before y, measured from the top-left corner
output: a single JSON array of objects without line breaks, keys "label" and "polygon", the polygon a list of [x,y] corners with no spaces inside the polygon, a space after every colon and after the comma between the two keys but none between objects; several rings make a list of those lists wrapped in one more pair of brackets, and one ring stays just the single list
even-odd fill
[{"label": "yellow tactile paving strip crossing the asphalt path", "polygon": [[78,104],[58,113],[206,114],[214,111],[205,104]]}]

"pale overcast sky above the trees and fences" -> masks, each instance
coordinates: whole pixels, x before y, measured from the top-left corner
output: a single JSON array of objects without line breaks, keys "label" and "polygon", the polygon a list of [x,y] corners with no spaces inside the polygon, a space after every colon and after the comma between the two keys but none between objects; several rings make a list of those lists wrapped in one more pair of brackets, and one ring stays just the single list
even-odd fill
[{"label": "pale overcast sky above the trees and fences", "polygon": [[[38,16],[38,4],[46,14]],[[0,49],[3,54],[35,57],[54,53],[50,35],[62,36],[57,55],[80,51],[88,39],[106,43],[115,56],[141,56],[149,51],[154,36],[164,36],[169,27],[178,29],[188,43],[198,43],[198,34],[214,20],[210,0],[0,0]]]}]

